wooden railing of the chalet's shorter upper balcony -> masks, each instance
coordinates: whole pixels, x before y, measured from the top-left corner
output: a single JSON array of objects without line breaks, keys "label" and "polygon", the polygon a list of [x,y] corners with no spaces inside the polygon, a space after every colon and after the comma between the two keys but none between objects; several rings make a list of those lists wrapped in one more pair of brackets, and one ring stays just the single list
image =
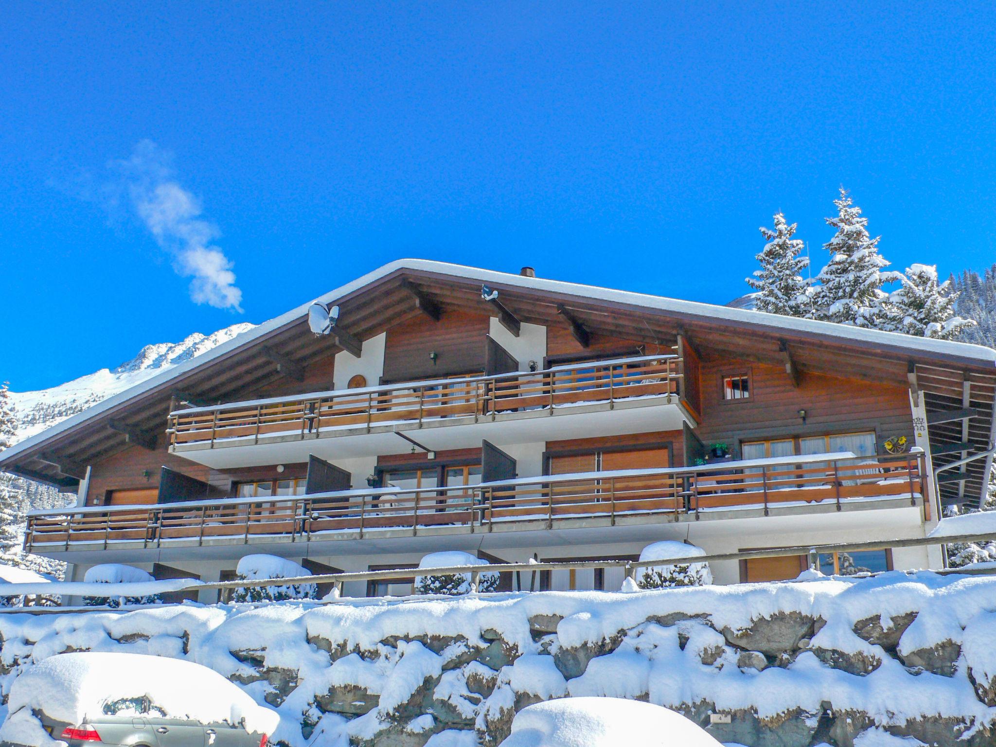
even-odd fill
[{"label": "wooden railing of the chalet's shorter upper balcony", "polygon": [[192,407],[169,414],[171,446],[315,438],[336,429],[680,396],[676,356],[594,361],[539,372],[415,381]]}]

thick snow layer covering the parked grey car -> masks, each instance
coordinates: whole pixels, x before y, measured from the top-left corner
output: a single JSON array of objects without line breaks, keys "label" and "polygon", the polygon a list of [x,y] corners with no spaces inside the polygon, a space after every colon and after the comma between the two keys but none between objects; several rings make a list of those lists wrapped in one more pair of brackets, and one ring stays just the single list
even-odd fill
[{"label": "thick snow layer covering the parked grey car", "polygon": [[[135,700],[141,698],[148,698],[148,713],[201,723],[244,723],[248,731],[260,733],[273,733],[279,721],[274,711],[220,674],[191,661],[135,653],[61,653],[14,681],[7,702],[11,716],[0,727],[0,740],[46,747],[54,742],[41,731],[34,711],[78,725],[88,715],[138,715],[142,711],[140,706],[136,710]],[[26,736],[31,741],[24,741]]]}]

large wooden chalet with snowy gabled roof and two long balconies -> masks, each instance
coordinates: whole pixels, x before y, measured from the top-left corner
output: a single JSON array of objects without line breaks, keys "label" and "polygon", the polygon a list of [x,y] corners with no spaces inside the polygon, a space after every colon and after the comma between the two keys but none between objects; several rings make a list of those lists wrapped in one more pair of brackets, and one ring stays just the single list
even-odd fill
[{"label": "large wooden chalet with snowy gabled roof and two long balconies", "polygon": [[[35,512],[25,542],[80,578],[122,562],[224,580],[260,552],[366,570],[439,549],[900,539],[978,505],[994,395],[987,348],[400,260],[22,441],[0,469],[78,494]],[[614,583],[589,575],[540,583]]]}]

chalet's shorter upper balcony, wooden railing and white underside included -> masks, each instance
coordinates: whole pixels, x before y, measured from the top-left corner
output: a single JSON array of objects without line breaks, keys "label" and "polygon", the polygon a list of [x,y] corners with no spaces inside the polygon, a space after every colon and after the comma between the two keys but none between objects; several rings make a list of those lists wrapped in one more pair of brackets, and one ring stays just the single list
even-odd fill
[{"label": "chalet's shorter upper balcony, wooden railing and white underside included", "polygon": [[646,356],[191,407],[170,413],[167,435],[173,453],[225,468],[401,453],[407,430],[433,451],[670,430],[697,411],[682,369]]}]

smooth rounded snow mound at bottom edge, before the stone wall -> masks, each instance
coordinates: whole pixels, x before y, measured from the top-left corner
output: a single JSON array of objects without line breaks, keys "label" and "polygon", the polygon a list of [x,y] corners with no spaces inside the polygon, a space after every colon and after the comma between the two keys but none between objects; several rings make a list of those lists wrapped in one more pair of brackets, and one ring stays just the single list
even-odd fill
[{"label": "smooth rounded snow mound at bottom edge, before the stone wall", "polygon": [[563,698],[519,711],[503,747],[720,747],[680,713],[622,698]]}]

